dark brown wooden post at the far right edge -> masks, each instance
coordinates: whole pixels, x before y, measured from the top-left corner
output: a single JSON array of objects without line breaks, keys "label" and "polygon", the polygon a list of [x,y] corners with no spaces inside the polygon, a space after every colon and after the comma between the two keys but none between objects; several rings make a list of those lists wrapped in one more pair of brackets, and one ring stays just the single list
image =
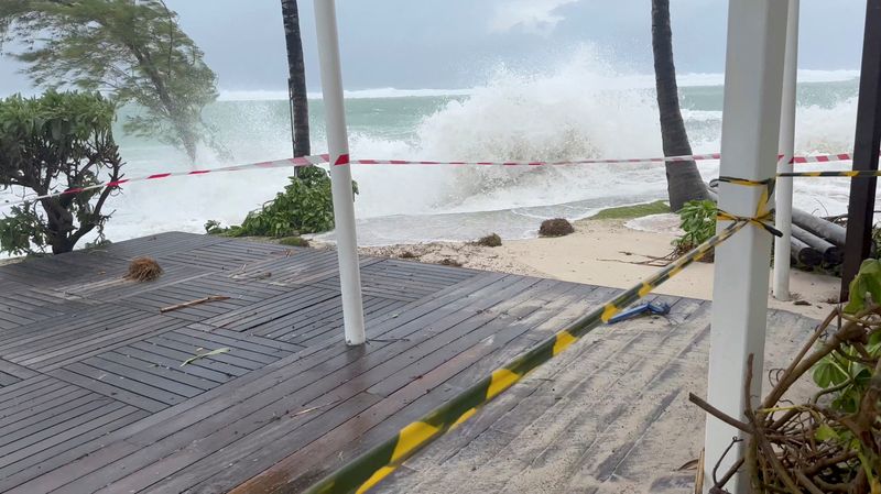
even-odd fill
[{"label": "dark brown wooden post at the far right edge", "polygon": [[[857,106],[857,135],[853,139],[853,169],[878,169],[881,146],[881,2],[866,2],[866,32],[862,39],[860,96]],[[841,300],[848,285],[869,256],[872,244],[872,212],[877,178],[850,180],[847,209],[847,244],[841,270]]]}]

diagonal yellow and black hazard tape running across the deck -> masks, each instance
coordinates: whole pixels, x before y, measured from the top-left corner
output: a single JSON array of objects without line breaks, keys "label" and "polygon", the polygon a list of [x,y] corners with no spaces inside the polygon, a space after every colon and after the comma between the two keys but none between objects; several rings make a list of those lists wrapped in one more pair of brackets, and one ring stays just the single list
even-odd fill
[{"label": "diagonal yellow and black hazard tape running across the deck", "polygon": [[759,204],[759,216],[757,216],[757,218],[741,218],[728,213],[720,215],[720,220],[732,220],[733,222],[667,267],[664,267],[639,285],[617,296],[608,304],[592,310],[568,328],[544,340],[532,350],[518,355],[503,366],[493,371],[490,375],[483,377],[459,395],[446,402],[444,405],[435,408],[428,415],[404,427],[393,438],[370,449],[341,469],[329,474],[317,484],[309,487],[306,493],[341,494],[356,492],[361,494],[367,492],[382,479],[394,472],[404,460],[413,455],[422,447],[466,421],[474,416],[480,407],[522,380],[529,372],[556,356],[559,352],[590,332],[597,326],[608,322],[608,320],[621,311],[621,309],[649,295],[655,287],[703,257],[707,252],[731,238],[747,224],[758,223],[761,224],[762,228],[766,227],[768,224],[765,221],[770,213],[763,211],[766,208],[766,201],[771,195],[770,193],[773,190],[773,180],[765,180],[761,184],[753,185],[768,186],[766,194],[762,196],[764,201]]}]

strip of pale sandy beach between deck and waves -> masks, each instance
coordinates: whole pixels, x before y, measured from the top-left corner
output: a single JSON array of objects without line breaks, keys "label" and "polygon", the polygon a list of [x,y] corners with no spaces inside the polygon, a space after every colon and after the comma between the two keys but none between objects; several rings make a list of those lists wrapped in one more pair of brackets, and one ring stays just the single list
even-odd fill
[{"label": "strip of pale sandy beach between deck and waves", "polygon": [[[561,238],[503,241],[486,248],[463,242],[362,248],[368,255],[412,257],[427,263],[455,262],[465,267],[541,276],[591,285],[629,288],[659,267],[638,264],[670,254],[678,231],[674,215],[631,220],[585,219],[575,233]],[[447,261],[448,260],[448,261]],[[713,298],[710,263],[695,263],[659,287],[656,293],[699,299]],[[822,319],[835,307],[840,281],[793,270],[792,300],[769,296],[769,307]]]}]

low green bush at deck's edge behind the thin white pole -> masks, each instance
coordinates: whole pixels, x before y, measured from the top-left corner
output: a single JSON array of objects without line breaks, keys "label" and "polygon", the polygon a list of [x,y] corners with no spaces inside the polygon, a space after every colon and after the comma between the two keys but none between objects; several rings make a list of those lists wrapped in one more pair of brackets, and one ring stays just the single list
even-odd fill
[{"label": "low green bush at deck's edge behind the thin white pole", "polygon": [[[358,185],[352,182],[358,194]],[[221,228],[210,220],[205,231],[230,237],[298,237],[301,233],[320,233],[334,229],[334,199],[330,175],[317,166],[300,168],[291,184],[275,199],[259,210],[251,211],[241,226]]]}]

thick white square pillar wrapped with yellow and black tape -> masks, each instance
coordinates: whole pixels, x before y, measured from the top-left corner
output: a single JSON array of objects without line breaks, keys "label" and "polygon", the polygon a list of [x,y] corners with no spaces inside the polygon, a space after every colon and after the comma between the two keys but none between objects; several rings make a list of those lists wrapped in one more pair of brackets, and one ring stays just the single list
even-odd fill
[{"label": "thick white square pillar wrapped with yellow and black tape", "polygon": [[[755,180],[774,176],[785,42],[786,2],[728,2],[720,175]],[[753,217],[761,193],[762,187],[721,183],[719,208]],[[770,262],[771,235],[753,226],[716,248],[707,400],[739,419],[746,409],[743,383],[750,353],[755,355],[753,400],[760,395]],[[704,492],[711,486],[713,468],[737,436],[741,436],[737,429],[707,416]],[[720,475],[740,458],[743,449],[739,446],[725,458]],[[749,480],[738,475],[726,488],[747,493]]]}]

